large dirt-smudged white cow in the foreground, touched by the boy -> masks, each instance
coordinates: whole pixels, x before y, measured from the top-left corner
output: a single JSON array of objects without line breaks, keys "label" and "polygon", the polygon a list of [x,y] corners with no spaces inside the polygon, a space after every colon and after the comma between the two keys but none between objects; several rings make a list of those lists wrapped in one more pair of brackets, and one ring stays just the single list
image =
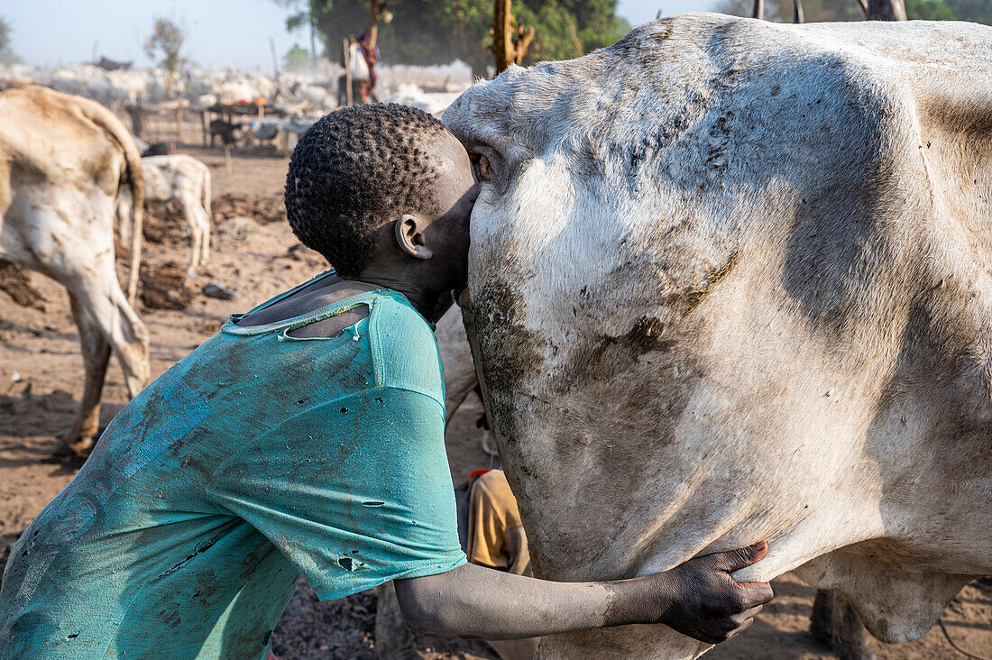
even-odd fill
[{"label": "large dirt-smudged white cow in the foreground, touched by the boy", "polygon": [[898,642],[992,573],[992,29],[684,14],[444,120],[491,170],[466,323],[536,575],[768,540],[738,579]]}]

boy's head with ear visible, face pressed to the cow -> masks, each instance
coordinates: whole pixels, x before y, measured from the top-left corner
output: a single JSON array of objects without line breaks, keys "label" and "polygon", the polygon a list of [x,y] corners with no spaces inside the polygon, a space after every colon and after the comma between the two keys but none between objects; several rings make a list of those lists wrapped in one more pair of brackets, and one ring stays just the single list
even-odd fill
[{"label": "boy's head with ear visible, face pressed to the cow", "polygon": [[352,278],[383,260],[409,271],[430,259],[442,279],[463,271],[475,195],[457,139],[426,112],[396,104],[322,117],[301,137],[286,179],[294,233]]}]

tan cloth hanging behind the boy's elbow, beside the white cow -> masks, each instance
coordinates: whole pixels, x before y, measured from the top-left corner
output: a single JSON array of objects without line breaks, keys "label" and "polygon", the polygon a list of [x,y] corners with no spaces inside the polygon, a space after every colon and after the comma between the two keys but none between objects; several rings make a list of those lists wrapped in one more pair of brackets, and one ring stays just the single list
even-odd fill
[{"label": "tan cloth hanging behind the boy's elbow, beside the white cow", "polygon": [[502,469],[490,469],[472,481],[465,554],[472,564],[531,575],[524,524]]}]

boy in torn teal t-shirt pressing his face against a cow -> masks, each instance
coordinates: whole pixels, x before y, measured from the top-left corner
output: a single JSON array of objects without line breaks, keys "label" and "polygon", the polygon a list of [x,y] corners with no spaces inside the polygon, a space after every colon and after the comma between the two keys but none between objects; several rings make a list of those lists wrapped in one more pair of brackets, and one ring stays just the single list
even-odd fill
[{"label": "boy in torn teal t-shirt pressing his face against a cow", "polygon": [[433,635],[747,627],[771,589],[728,573],[763,544],[616,583],[465,563],[429,321],[464,286],[476,195],[465,150],[423,112],[314,124],[286,207],[336,274],[234,315],[117,415],[11,552],[0,658],[263,659],[301,575],[321,599],[396,580]]}]

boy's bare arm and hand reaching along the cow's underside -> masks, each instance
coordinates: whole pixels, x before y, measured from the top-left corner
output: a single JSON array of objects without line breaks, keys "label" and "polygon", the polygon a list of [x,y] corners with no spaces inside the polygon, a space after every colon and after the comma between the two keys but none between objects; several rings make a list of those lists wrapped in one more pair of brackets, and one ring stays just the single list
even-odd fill
[{"label": "boy's bare arm and hand reaching along the cow's underside", "polygon": [[414,630],[435,637],[516,639],[627,623],[665,623],[715,644],[753,622],[772,598],[767,583],[737,583],[730,572],[754,564],[764,543],[700,557],[647,578],[557,583],[463,565],[396,581]]}]

